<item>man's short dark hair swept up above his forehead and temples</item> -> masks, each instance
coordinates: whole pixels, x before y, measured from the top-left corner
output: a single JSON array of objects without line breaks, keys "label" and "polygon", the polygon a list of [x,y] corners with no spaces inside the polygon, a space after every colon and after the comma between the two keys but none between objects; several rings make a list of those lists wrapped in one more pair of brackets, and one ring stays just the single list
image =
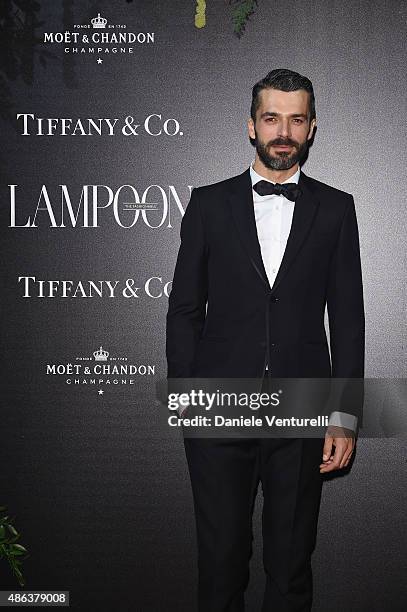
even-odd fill
[{"label": "man's short dark hair swept up above his forehead and temples", "polygon": [[271,70],[264,79],[258,81],[253,87],[250,115],[254,123],[256,123],[256,112],[260,106],[259,93],[263,89],[279,89],[280,91],[297,91],[297,89],[305,89],[305,91],[308,91],[310,94],[309,120],[311,122],[312,119],[315,119],[315,97],[311,81],[298,72],[293,72],[287,68],[276,68],[275,70]]}]

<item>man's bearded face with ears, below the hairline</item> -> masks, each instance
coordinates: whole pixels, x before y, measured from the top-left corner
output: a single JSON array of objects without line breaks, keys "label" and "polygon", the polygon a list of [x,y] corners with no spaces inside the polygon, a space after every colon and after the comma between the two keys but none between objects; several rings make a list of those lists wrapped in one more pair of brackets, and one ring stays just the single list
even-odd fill
[{"label": "man's bearded face with ears, below the hairline", "polygon": [[248,129],[267,168],[288,170],[305,155],[316,124],[315,119],[308,120],[309,97],[305,89],[260,92],[256,124],[250,118]]}]

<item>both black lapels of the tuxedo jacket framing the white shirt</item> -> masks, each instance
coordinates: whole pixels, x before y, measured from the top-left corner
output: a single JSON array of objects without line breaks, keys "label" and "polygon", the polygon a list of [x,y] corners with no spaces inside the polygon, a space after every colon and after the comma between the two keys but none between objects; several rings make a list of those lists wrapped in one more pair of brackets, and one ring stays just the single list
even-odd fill
[{"label": "both black lapels of the tuxedo jacket framing the white shirt", "polygon": [[298,184],[301,187],[301,195],[295,202],[287,246],[273,287],[270,287],[261,256],[256,219],[254,216],[252,183],[249,168],[234,179],[228,194],[230,209],[240,240],[256,273],[269,291],[274,292],[287,273],[311,228],[315,213],[319,206],[319,201],[312,189],[310,179],[302,171],[300,172]]}]

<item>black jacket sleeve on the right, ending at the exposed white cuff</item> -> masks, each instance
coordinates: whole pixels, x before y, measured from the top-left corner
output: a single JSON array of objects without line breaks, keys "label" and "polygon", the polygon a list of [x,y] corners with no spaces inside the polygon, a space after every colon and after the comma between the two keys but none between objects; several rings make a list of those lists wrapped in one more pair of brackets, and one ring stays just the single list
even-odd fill
[{"label": "black jacket sleeve on the right, ending at the exposed white cuff", "polygon": [[365,314],[359,233],[352,196],[349,196],[331,260],[327,308],[332,377],[343,379],[343,385],[336,387],[342,391],[340,394],[334,394],[336,397],[332,408],[361,417],[364,395],[362,379],[365,361]]}]

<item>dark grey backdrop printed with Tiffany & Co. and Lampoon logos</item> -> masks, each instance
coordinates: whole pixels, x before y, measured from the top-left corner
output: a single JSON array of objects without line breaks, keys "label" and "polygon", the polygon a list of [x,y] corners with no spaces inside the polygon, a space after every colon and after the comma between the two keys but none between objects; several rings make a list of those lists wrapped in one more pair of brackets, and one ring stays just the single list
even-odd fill
[{"label": "dark grey backdrop printed with Tiffany & Co. and Lampoon logos", "polygon": [[[282,67],[308,76],[318,129],[304,171],[355,198],[366,375],[405,377],[406,6],[0,11],[0,505],[29,553],[24,588],[69,591],[74,610],[189,612],[192,493],[156,384],[191,190],[254,159],[255,82]],[[405,609],[406,460],[404,439],[364,438],[352,470],[326,479],[317,612]],[[261,500],[254,531],[253,611]],[[1,554],[0,587],[21,590]]]}]

